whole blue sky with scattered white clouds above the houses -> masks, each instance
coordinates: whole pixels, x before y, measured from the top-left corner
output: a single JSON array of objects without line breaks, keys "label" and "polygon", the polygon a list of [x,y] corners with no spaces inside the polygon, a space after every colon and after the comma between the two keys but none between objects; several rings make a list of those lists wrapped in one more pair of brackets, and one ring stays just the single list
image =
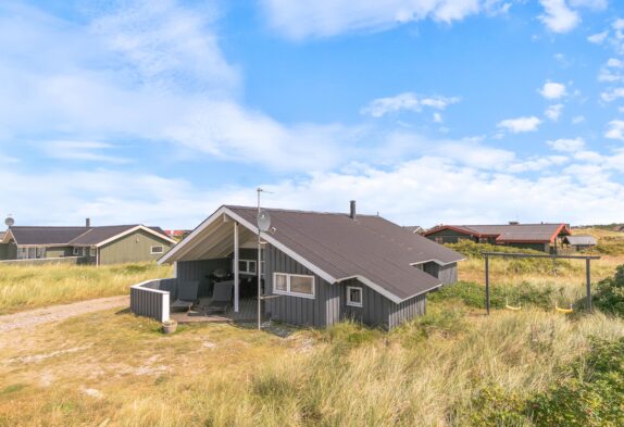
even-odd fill
[{"label": "whole blue sky with scattered white clouds above the houses", "polygon": [[624,222],[614,0],[0,2],[0,215]]}]

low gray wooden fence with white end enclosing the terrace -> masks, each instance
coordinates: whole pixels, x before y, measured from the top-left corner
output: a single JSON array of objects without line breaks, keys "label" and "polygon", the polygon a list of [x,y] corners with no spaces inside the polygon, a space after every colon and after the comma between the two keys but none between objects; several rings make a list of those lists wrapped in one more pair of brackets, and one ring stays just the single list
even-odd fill
[{"label": "low gray wooden fence with white end enclosing the terrace", "polygon": [[[175,297],[175,279],[157,279],[130,287],[130,311],[139,316],[169,319],[170,301]],[[173,292],[172,292],[173,291]]]}]

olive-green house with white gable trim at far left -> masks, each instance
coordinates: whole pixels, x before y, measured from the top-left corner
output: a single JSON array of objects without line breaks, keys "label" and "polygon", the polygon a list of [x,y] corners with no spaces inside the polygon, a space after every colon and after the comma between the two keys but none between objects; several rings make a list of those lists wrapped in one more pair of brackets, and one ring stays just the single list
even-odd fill
[{"label": "olive-green house with white gable trim at far left", "polygon": [[0,240],[0,260],[76,256],[86,264],[116,264],[158,260],[175,241],[159,227],[11,226]]}]

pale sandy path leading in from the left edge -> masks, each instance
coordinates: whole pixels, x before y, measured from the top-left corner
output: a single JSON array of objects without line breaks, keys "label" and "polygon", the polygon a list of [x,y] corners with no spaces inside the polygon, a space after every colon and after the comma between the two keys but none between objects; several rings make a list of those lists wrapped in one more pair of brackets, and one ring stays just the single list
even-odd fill
[{"label": "pale sandy path leading in from the left edge", "polygon": [[0,316],[0,332],[30,328],[51,322],[64,321],[78,314],[99,312],[114,307],[129,306],[129,296],[99,298],[63,305],[51,305],[45,309],[29,310],[27,312],[5,314]]}]

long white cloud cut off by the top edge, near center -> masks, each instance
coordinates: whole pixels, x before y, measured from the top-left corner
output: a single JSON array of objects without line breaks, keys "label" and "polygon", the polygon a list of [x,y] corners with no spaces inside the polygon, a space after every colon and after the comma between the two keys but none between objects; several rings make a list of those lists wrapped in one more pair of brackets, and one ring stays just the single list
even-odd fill
[{"label": "long white cloud cut off by the top edge, near center", "polygon": [[332,37],[350,32],[375,32],[432,18],[452,23],[486,12],[504,13],[499,0],[262,0],[270,25],[291,39]]}]

